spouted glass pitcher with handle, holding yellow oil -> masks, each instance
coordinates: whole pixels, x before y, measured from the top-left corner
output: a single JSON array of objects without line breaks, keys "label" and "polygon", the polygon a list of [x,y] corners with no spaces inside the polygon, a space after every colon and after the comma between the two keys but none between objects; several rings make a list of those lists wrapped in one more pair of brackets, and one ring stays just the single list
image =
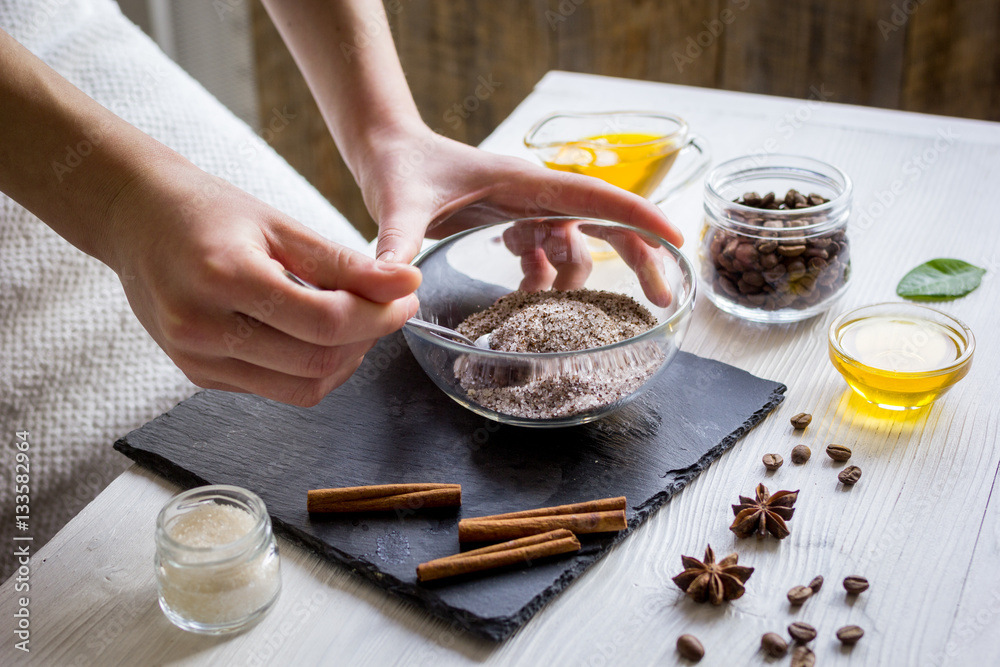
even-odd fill
[{"label": "spouted glass pitcher with handle, holding yellow oil", "polygon": [[524,145],[549,169],[594,176],[655,204],[702,176],[710,161],[705,140],[682,118],[652,111],[555,113],[528,130]]}]

